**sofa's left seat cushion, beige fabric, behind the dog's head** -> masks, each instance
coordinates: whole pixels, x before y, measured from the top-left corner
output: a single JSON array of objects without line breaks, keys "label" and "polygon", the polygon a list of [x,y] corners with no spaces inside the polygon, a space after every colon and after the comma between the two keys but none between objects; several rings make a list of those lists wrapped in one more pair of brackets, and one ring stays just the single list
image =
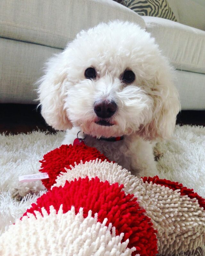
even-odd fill
[{"label": "sofa's left seat cushion, beige fabric, behind the dog's head", "polygon": [[0,37],[64,48],[82,29],[114,19],[145,28],[134,11],[111,0],[0,1]]}]

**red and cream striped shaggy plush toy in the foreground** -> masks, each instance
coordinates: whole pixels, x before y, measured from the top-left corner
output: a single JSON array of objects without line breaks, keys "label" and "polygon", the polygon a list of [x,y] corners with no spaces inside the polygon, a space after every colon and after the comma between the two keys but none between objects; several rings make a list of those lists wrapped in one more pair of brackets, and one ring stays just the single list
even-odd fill
[{"label": "red and cream striped shaggy plush toy in the foreground", "polygon": [[0,255],[168,256],[204,246],[205,200],[193,189],[137,178],[81,144],[40,162],[48,191],[0,237]]}]

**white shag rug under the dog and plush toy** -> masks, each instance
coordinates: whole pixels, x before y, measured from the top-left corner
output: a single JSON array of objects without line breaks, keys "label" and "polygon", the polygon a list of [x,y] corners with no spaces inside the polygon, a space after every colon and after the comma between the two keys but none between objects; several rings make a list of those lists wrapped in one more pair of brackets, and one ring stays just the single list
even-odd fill
[{"label": "white shag rug under the dog and plush toy", "polygon": [[[39,160],[59,147],[63,137],[64,132],[0,134],[0,234],[45,193],[40,181],[20,183],[18,177],[38,173]],[[158,151],[163,152],[157,163],[160,178],[178,181],[205,197],[205,127],[176,126],[174,138],[160,143]],[[13,198],[16,188],[26,196],[20,202]]]}]

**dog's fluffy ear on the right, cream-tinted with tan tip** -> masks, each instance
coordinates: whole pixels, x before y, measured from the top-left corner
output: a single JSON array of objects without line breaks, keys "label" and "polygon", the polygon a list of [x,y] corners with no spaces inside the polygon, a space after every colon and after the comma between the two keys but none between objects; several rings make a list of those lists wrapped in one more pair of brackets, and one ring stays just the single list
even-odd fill
[{"label": "dog's fluffy ear on the right, cream-tinted with tan tip", "polygon": [[180,111],[178,92],[169,72],[162,72],[156,79],[150,96],[153,99],[152,120],[141,127],[139,133],[145,139],[170,138],[173,134],[176,115]]}]

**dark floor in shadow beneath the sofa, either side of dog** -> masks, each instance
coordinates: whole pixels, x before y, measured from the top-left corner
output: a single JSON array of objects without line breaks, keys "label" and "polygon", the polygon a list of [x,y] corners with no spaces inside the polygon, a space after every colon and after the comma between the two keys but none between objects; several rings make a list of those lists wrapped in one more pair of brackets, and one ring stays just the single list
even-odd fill
[{"label": "dark floor in shadow beneath the sofa, either side of dog", "polygon": [[[205,126],[205,111],[181,111],[177,116],[177,124]],[[0,104],[0,133],[18,134],[38,129],[55,132],[46,125],[37,105]]]}]

